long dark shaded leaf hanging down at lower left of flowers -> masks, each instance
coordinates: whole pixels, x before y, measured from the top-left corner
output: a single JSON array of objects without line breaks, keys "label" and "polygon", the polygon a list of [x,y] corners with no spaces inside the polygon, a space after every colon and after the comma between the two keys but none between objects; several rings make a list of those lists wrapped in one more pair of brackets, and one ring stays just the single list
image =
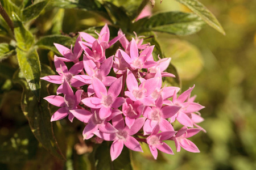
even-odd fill
[{"label": "long dark shaded leaf hanging down at lower left of flowers", "polygon": [[[48,75],[49,73],[52,74],[52,72],[53,71],[49,69],[48,66],[42,65],[42,75]],[[38,101],[28,87],[28,83],[24,79],[22,71],[16,71],[13,80],[15,83],[19,83],[23,87],[21,108],[24,116],[26,116],[30,124],[32,133],[34,133],[36,139],[38,139],[46,150],[57,158],[64,160],[65,158],[57,145],[56,138],[53,134],[48,102],[43,99],[43,97],[48,95],[48,82],[42,82],[40,100]]]}]

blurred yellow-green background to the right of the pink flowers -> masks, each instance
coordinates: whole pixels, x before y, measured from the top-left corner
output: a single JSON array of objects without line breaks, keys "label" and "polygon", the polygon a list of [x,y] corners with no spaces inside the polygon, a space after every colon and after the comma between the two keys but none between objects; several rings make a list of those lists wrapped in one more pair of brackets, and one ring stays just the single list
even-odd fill
[{"label": "blurred yellow-green background to the right of the pink flowers", "polygon": [[[158,34],[180,74],[182,90],[195,84],[192,94],[205,106],[200,112],[205,121],[199,125],[207,133],[192,137],[201,152],[163,154],[154,165],[154,160],[138,161],[138,169],[256,169],[256,1],[201,2],[226,36],[209,26],[186,37]],[[174,1],[156,1],[154,12],[170,10],[189,11]]]}]

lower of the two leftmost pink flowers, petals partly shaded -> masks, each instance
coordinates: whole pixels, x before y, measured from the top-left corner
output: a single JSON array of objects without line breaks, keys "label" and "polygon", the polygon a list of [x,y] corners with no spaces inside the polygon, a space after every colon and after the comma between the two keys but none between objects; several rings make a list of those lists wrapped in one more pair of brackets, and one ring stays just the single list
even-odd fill
[{"label": "lower of the two leftmost pink flowers, petals partly shaded", "polygon": [[81,101],[81,94],[83,91],[77,90],[76,94],[74,95],[73,90],[69,86],[67,80],[64,80],[63,91],[64,97],[55,95],[44,97],[44,100],[47,100],[52,105],[61,107],[52,115],[51,121],[61,120],[66,116],[68,116],[71,122],[73,121],[74,116],[70,111],[77,109],[77,105],[79,105]]}]

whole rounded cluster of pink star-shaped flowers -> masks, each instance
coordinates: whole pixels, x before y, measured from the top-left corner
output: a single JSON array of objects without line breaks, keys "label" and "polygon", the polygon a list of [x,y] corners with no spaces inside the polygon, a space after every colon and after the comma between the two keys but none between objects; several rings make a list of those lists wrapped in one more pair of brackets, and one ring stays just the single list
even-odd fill
[{"label": "whole rounded cluster of pink star-shaped flowers", "polygon": [[[71,49],[55,44],[63,56],[54,57],[59,75],[41,78],[60,84],[57,95],[44,98],[60,107],[51,121],[68,116],[71,122],[74,117],[84,122],[84,139],[95,137],[96,141],[113,141],[110,148],[112,160],[121,154],[123,145],[143,152],[139,142],[147,143],[155,159],[157,149],[174,154],[163,142],[166,140],[175,141],[177,152],[180,147],[199,152],[187,138],[204,131],[197,125],[203,121],[199,111],[204,107],[194,102],[195,96],[190,96],[194,87],[177,97],[179,87],[162,84],[162,77],[174,77],[164,72],[170,58],[154,61],[154,45],[143,44],[142,37],[137,36],[129,41],[121,30],[117,37],[109,40],[108,25],[97,35],[98,39],[95,39],[80,32]],[[117,41],[122,49],[118,49],[114,56],[105,56],[105,50]],[[74,65],[68,69],[65,62]],[[71,86],[76,90],[75,94]],[[183,128],[175,131],[174,121]]]}]

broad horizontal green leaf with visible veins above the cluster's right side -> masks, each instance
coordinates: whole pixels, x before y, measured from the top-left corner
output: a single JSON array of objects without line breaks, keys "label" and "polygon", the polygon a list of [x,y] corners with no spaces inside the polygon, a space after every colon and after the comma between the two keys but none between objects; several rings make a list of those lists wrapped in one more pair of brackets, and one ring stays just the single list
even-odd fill
[{"label": "broad horizontal green leaf with visible veins above the cluster's right side", "polygon": [[164,12],[151,16],[149,19],[138,20],[135,22],[137,28],[143,31],[166,32],[174,35],[191,35],[200,31],[204,22],[201,18],[192,13],[184,12]]}]

